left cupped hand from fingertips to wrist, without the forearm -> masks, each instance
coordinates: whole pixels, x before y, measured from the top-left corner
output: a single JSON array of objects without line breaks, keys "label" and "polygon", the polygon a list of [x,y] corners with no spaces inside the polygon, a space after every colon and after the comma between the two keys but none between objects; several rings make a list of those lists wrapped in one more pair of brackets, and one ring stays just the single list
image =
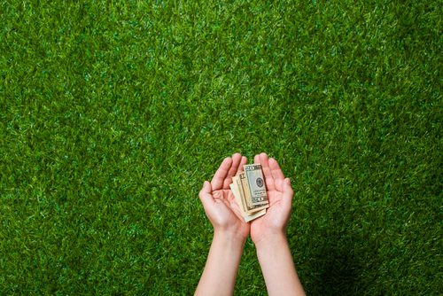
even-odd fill
[{"label": "left cupped hand from fingertips to wrist, without the forearm", "polygon": [[214,234],[221,233],[232,238],[243,239],[249,235],[250,225],[240,214],[236,198],[230,190],[232,177],[243,171],[247,159],[236,153],[221,162],[211,183],[205,181],[198,194],[209,221],[213,224]]}]

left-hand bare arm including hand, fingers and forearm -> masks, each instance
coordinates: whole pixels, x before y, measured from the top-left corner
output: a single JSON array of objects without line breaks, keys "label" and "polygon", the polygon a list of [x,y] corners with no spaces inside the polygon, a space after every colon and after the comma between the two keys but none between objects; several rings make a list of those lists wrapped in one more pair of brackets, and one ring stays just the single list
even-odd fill
[{"label": "left-hand bare arm including hand, fingers and forearm", "polygon": [[247,159],[239,153],[232,159],[226,158],[211,183],[205,181],[198,194],[206,216],[213,224],[214,238],[195,295],[232,295],[234,291],[250,224],[241,216],[229,184],[234,175],[243,171],[246,162]]}]

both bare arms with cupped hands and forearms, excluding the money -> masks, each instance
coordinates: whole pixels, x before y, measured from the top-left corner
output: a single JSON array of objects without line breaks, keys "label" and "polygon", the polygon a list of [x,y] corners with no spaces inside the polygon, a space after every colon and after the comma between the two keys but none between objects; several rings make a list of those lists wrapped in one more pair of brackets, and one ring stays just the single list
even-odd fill
[{"label": "both bare arms with cupped hands and forearms, excluding the money", "polygon": [[262,166],[268,191],[269,208],[264,216],[245,222],[229,188],[232,177],[247,163],[239,153],[223,160],[211,183],[205,181],[198,194],[213,224],[214,238],[196,295],[232,295],[249,233],[257,247],[269,295],[305,295],[286,240],[293,196],[289,179],[266,153],[256,155],[254,162]]}]

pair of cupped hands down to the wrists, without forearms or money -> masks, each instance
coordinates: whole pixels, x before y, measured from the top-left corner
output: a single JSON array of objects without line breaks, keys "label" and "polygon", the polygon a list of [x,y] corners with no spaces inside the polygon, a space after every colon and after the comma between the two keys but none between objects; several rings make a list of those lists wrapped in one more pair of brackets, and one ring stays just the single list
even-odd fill
[{"label": "pair of cupped hands down to the wrists, without forearms or money", "polygon": [[253,243],[258,245],[275,236],[285,236],[291,218],[293,191],[289,178],[284,178],[276,160],[268,159],[266,153],[256,155],[254,163],[261,164],[269,207],[265,215],[252,222],[245,222],[229,184],[233,176],[243,171],[246,163],[245,156],[239,153],[223,160],[211,183],[205,181],[198,196],[215,233],[223,233],[243,242],[251,233]]}]

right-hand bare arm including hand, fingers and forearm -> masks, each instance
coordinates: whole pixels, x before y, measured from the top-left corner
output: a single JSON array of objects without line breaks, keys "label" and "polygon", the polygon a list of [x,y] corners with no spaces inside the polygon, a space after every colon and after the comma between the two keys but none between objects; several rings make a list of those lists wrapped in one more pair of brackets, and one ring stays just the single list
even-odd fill
[{"label": "right-hand bare arm including hand, fingers and forearm", "polygon": [[256,155],[267,187],[269,208],[264,216],[251,222],[251,238],[257,248],[261,271],[269,295],[306,295],[297,276],[286,229],[291,219],[291,180],[266,153]]}]

